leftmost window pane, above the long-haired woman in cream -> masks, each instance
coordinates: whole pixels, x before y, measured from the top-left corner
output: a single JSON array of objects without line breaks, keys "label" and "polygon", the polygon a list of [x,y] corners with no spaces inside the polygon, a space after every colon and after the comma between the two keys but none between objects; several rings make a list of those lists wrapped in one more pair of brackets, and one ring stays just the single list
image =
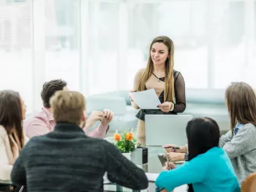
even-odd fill
[{"label": "leftmost window pane, above the long-haired woman in cream", "polygon": [[0,87],[19,91],[30,113],[34,104],[31,43],[32,1],[0,1]]}]

